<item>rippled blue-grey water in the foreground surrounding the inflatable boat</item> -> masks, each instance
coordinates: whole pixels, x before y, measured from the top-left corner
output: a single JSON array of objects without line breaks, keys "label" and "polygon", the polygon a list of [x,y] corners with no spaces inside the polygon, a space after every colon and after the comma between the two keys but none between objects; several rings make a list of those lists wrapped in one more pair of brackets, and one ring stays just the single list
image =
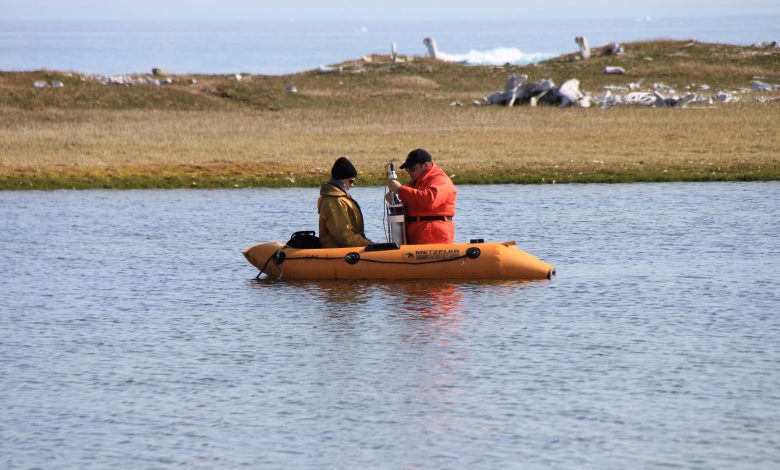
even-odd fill
[{"label": "rippled blue-grey water in the foreground surrounding the inflatable boat", "polygon": [[255,280],[316,194],[0,192],[0,467],[780,466],[779,183],[461,186],[552,281]]}]

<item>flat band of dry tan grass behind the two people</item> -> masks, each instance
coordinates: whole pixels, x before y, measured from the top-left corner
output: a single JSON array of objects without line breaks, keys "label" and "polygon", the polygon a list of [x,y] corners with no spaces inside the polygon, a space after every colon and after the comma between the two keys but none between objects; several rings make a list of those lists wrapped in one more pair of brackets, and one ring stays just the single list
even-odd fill
[{"label": "flat band of dry tan grass behind the two people", "polygon": [[311,182],[307,175],[325,175],[336,157],[347,155],[362,176],[378,181],[388,161],[401,161],[409,150],[425,147],[462,181],[525,181],[531,176],[536,181],[579,181],[580,173],[663,180],[664,170],[672,172],[670,179],[681,172],[698,175],[682,179],[706,174],[712,179],[734,179],[734,174],[743,175],[736,179],[773,179],[780,174],[779,108],[780,103],[683,110],[4,109],[0,173],[29,175],[43,168],[76,174],[102,168],[155,174],[169,167],[211,177]]}]

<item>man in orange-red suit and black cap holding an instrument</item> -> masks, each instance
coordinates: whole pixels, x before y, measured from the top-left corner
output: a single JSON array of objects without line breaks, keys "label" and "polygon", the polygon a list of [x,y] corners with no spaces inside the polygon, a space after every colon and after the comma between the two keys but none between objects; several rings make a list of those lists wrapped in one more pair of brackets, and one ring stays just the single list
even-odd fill
[{"label": "man in orange-red suit and black cap holding an instrument", "polygon": [[452,243],[455,239],[455,198],[452,180],[423,149],[409,152],[401,169],[409,172],[409,183],[402,186],[388,180],[391,193],[398,194],[406,209],[406,243]]}]

